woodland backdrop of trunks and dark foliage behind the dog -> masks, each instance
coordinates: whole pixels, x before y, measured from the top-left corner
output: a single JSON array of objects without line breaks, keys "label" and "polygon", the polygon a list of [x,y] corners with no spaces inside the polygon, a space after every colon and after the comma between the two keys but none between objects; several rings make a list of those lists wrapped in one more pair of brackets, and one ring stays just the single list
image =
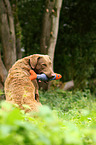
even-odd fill
[{"label": "woodland backdrop of trunks and dark foliage behind the dog", "polygon": [[[73,80],[74,89],[89,88],[96,93],[95,0],[1,0],[0,10],[2,90],[17,59],[42,53],[51,56],[62,82]],[[53,23],[55,18],[59,27]],[[54,27],[58,31],[55,38]]]}]

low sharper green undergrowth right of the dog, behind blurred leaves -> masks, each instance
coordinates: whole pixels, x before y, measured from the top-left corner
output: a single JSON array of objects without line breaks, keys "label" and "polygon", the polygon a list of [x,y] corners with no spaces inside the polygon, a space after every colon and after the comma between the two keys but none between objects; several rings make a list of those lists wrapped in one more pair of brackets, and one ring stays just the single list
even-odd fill
[{"label": "low sharper green undergrowth right of the dog, behind blurred leaves", "polygon": [[[51,107],[51,109],[69,111],[70,109],[84,108],[90,106],[91,94],[89,90],[84,92],[77,91],[63,91],[63,90],[50,90],[48,92],[40,92],[40,100],[43,104]],[[90,101],[89,101],[90,100]]]}]

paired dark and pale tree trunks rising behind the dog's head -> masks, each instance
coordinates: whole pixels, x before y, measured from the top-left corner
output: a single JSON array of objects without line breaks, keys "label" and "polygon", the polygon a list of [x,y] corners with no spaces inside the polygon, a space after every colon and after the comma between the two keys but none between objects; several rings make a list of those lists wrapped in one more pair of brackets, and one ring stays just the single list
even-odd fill
[{"label": "paired dark and pale tree trunks rising behind the dog's head", "polygon": [[41,35],[41,53],[48,54],[52,63],[58,35],[59,17],[62,0],[46,0]]}]

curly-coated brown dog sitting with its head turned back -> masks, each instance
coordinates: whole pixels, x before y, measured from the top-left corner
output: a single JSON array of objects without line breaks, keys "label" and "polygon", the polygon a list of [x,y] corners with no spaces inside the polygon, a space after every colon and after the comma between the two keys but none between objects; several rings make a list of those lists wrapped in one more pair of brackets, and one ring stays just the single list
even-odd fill
[{"label": "curly-coated brown dog sitting with its head turned back", "polygon": [[37,81],[29,79],[31,69],[38,74],[45,73],[49,78],[54,75],[50,57],[34,54],[18,60],[9,70],[5,81],[6,100],[18,104],[21,109],[24,109],[24,104],[29,105],[30,109],[26,109],[26,112],[37,111],[41,105]]}]

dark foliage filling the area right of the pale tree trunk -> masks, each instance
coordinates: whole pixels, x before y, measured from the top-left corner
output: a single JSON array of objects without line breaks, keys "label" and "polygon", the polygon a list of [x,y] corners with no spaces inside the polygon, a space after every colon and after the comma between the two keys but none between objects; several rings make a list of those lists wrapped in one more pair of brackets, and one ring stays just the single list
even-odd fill
[{"label": "dark foliage filling the area right of the pale tree trunk", "polygon": [[73,79],[75,88],[91,88],[90,80],[96,77],[95,15],[94,0],[63,1],[54,61],[55,71],[59,70],[63,81]]}]

